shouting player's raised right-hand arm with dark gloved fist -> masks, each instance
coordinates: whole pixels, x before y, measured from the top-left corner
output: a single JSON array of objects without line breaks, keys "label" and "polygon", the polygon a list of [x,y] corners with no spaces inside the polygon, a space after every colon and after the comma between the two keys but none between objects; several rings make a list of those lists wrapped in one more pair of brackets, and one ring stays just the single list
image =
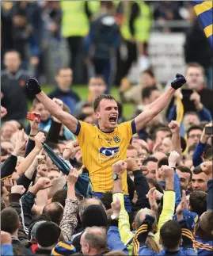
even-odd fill
[{"label": "shouting player's raised right-hand arm with dark gloved fist", "polygon": [[181,86],[183,86],[185,82],[186,80],[184,76],[177,74],[176,78],[171,84],[171,87],[169,87],[169,89],[166,90],[165,93],[158,97],[157,100],[152,102],[148,109],[143,111],[143,113],[139,114],[138,117],[135,117],[137,132],[141,130],[144,126],[146,126],[146,124],[148,124],[150,120],[152,120],[154,117],[158,116],[158,114],[162,112],[171,97],[173,97],[175,91],[181,88]]}]

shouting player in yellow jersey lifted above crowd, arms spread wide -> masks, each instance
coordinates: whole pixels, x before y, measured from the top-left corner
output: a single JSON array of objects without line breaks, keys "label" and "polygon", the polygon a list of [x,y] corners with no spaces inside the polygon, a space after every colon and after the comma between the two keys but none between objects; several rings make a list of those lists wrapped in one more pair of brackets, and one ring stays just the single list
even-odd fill
[{"label": "shouting player in yellow jersey lifted above crowd, arms spread wide", "polygon": [[[95,99],[93,108],[98,124],[91,125],[78,121],[69,113],[64,112],[41,91],[36,78],[29,78],[26,87],[32,94],[36,94],[52,116],[59,119],[70,129],[70,132],[77,136],[82,149],[82,162],[89,171],[93,191],[97,197],[101,197],[102,193],[112,191],[112,165],[127,158],[127,147],[132,135],[157,116],[173,97],[175,91],[185,82],[184,76],[177,74],[171,87],[150,104],[148,109],[134,120],[119,125],[117,124],[118,106],[111,95],[102,94]],[[117,178],[120,177],[113,177],[113,179]],[[127,211],[131,211],[131,201],[127,196],[127,172],[123,175],[123,189],[127,199]]]}]

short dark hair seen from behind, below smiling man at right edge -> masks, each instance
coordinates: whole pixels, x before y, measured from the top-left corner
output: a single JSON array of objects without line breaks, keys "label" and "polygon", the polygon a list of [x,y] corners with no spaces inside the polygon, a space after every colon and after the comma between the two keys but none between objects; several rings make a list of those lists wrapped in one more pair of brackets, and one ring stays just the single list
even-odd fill
[{"label": "short dark hair seen from behind, below smiling man at right edge", "polygon": [[190,194],[189,205],[191,212],[196,212],[199,216],[207,210],[207,193],[203,191],[194,191]]}]

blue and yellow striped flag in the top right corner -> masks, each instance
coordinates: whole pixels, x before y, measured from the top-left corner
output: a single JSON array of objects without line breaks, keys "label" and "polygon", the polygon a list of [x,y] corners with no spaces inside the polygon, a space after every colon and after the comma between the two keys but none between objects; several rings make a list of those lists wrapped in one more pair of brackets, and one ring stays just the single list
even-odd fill
[{"label": "blue and yellow striped flag in the top right corner", "polygon": [[212,0],[193,1],[193,6],[197,17],[200,19],[203,31],[211,44],[211,48],[213,48],[213,2]]}]

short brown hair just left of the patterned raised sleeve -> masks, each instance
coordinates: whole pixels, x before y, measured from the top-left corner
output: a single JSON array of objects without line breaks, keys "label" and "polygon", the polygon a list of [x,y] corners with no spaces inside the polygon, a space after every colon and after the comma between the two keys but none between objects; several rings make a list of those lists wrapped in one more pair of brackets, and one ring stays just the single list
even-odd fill
[{"label": "short brown hair just left of the patterned raised sleeve", "polygon": [[51,218],[51,221],[60,225],[63,218],[63,207],[59,202],[52,202],[44,206],[43,212]]}]

